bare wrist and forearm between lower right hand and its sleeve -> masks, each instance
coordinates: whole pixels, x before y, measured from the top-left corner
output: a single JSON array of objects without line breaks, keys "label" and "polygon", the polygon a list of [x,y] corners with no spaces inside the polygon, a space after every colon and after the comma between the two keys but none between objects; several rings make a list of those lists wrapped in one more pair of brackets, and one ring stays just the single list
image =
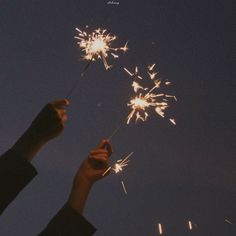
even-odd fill
[{"label": "bare wrist and forearm between lower right hand and its sleeve", "polygon": [[79,180],[72,187],[68,204],[81,215],[83,214],[91,187],[92,183],[83,179]]}]

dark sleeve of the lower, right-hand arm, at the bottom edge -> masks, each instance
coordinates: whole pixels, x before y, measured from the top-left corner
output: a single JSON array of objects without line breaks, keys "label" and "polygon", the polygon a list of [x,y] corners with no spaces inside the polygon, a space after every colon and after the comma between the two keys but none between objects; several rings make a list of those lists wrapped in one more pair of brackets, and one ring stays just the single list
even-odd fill
[{"label": "dark sleeve of the lower, right-hand arm, at the bottom edge", "polygon": [[82,215],[65,204],[39,236],[91,236],[95,231]]}]

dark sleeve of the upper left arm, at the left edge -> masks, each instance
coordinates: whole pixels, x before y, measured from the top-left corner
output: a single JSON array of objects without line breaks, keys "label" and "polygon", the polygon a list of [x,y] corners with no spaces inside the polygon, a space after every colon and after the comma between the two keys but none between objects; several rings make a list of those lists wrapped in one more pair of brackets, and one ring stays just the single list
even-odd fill
[{"label": "dark sleeve of the upper left arm, at the left edge", "polygon": [[0,215],[36,174],[30,162],[12,149],[0,157]]}]

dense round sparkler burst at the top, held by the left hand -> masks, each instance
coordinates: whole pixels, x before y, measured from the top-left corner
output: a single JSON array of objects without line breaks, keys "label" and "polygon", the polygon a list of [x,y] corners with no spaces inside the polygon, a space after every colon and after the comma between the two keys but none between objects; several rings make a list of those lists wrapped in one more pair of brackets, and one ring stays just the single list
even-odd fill
[{"label": "dense round sparkler burst at the top, held by the left hand", "polygon": [[83,59],[89,61],[101,59],[106,70],[112,66],[107,62],[109,55],[112,55],[113,58],[116,59],[119,57],[117,54],[118,51],[126,52],[128,50],[128,42],[126,42],[123,47],[112,47],[112,43],[117,37],[107,33],[106,29],[98,28],[91,33],[87,33],[78,28],[76,28],[76,31],[78,32],[78,36],[74,38],[78,39],[77,44],[84,52]]}]

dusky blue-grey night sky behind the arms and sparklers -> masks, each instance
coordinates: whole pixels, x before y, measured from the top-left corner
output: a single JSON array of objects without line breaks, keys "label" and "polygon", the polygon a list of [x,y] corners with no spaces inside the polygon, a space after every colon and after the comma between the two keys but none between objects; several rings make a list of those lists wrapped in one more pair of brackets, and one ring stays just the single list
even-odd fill
[{"label": "dusky blue-grey night sky behind the arms and sparklers", "polygon": [[[127,54],[108,59],[111,70],[96,61],[79,80],[64,133],[34,159],[39,174],[1,216],[0,235],[37,235],[65,203],[83,158],[120,123],[111,159],[134,155],[91,191],[85,216],[97,236],[154,236],[158,223],[168,236],[234,235],[233,2],[0,0],[1,153],[79,78],[87,62],[75,27],[106,28],[116,46],[129,41]],[[122,67],[145,73],[152,63],[172,82],[178,102],[168,114],[177,126],[154,113],[126,126],[133,92]]]}]

